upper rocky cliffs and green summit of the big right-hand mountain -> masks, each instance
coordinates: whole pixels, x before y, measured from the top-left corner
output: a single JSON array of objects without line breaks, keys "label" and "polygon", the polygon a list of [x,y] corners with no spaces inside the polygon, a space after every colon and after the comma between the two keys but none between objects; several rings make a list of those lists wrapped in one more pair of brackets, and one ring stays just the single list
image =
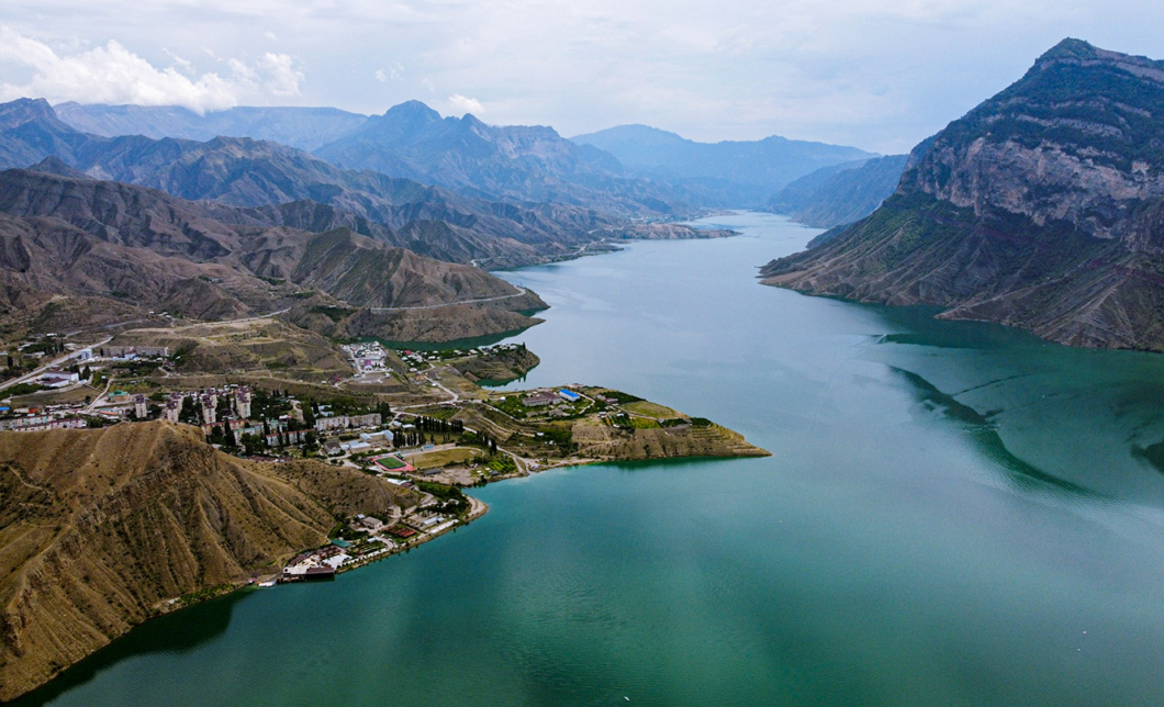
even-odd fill
[{"label": "upper rocky cliffs and green summit of the big right-hand mountain", "polygon": [[915,151],[903,192],[1124,235],[1164,195],[1164,62],[1067,40]]}]

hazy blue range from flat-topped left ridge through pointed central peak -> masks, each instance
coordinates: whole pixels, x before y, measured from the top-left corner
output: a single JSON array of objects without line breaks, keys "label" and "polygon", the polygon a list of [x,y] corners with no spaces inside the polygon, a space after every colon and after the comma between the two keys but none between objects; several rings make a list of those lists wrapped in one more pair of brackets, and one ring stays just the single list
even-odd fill
[{"label": "hazy blue range from flat-topped left ridge through pointed central peak", "polygon": [[490,202],[549,202],[622,217],[700,213],[700,205],[684,200],[690,194],[629,178],[610,155],[580,147],[552,128],[489,126],[473,115],[442,117],[420,101],[372,116],[325,108],[234,108],[199,116],[175,107],[63,103],[59,117],[77,130],[111,138],[272,141],[310,149],[320,162],[346,170],[371,170]]}]

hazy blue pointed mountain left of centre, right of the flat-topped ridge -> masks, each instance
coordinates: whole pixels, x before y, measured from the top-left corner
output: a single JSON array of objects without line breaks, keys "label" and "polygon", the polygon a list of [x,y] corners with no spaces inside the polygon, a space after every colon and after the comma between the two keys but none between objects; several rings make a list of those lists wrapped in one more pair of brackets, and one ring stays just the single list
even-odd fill
[{"label": "hazy blue pointed mountain left of centre, right of the flat-topped ridge", "polygon": [[610,155],[541,126],[441,117],[420,101],[374,115],[314,153],[332,164],[438,184],[487,199],[553,201],[630,216],[695,215],[683,194],[630,179]]}]

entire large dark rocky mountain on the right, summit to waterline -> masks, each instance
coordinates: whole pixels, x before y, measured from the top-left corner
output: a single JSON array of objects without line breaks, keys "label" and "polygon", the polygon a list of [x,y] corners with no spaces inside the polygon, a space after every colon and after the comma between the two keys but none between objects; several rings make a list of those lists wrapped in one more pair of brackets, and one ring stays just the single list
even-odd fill
[{"label": "entire large dark rocky mountain on the right, summit to waterline", "polygon": [[1164,63],[1066,40],[765,284],[1164,350]]}]

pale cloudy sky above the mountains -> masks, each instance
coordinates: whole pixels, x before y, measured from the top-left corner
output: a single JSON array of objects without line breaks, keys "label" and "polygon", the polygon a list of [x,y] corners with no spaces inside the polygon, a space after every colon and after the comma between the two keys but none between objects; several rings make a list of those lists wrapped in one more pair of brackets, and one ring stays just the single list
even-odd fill
[{"label": "pale cloudy sky above the mountains", "polygon": [[1064,37],[1164,59],[1142,0],[5,0],[0,100],[410,99],[566,136],[646,123],[908,151]]}]

